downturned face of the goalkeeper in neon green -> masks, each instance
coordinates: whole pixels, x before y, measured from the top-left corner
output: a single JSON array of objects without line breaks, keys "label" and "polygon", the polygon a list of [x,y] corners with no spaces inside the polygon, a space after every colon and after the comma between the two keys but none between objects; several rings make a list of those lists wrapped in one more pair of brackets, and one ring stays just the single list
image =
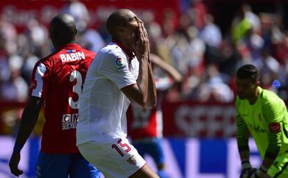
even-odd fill
[{"label": "downturned face of the goalkeeper in neon green", "polygon": [[257,83],[253,83],[250,79],[236,79],[237,95],[240,99],[250,99],[255,96]]}]

